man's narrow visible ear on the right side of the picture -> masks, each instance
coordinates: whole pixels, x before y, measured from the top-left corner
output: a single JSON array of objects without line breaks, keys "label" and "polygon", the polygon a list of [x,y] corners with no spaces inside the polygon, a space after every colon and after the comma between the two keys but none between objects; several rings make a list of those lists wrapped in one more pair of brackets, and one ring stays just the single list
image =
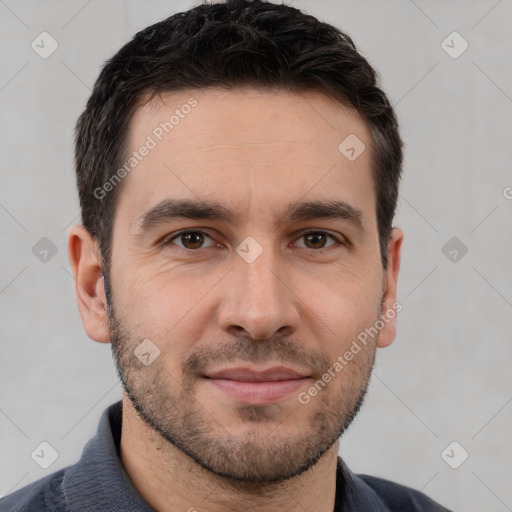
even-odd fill
[{"label": "man's narrow visible ear on the right side of the picture", "polygon": [[388,260],[384,272],[384,293],[382,297],[382,320],[384,327],[379,333],[377,346],[380,348],[391,345],[396,336],[396,317],[402,305],[397,303],[396,289],[398,271],[400,270],[400,250],[404,233],[400,228],[393,228],[388,243]]}]

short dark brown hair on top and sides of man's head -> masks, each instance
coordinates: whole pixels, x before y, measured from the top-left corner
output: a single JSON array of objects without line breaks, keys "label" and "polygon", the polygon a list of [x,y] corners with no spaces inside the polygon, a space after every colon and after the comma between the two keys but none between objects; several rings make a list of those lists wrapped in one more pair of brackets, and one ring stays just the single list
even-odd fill
[{"label": "short dark brown hair on top and sides of man's head", "polygon": [[138,32],[105,63],[78,119],[75,168],[82,224],[98,242],[107,278],[124,180],[108,194],[103,187],[126,161],[127,127],[137,103],[146,94],[151,99],[160,92],[244,86],[321,91],[367,123],[386,268],[403,143],[378,74],[348,35],[311,15],[261,0],[227,0],[198,5]]}]

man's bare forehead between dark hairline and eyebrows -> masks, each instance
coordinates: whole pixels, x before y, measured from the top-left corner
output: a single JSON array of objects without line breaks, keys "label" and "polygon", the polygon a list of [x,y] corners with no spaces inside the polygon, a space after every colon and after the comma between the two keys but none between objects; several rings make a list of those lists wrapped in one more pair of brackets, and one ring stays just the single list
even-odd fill
[{"label": "man's bare forehead between dark hairline and eyebrows", "polygon": [[[357,202],[372,216],[370,132],[334,99],[211,88],[146,100],[129,124],[126,162],[133,165],[125,166],[119,199],[131,222],[168,197],[229,202],[241,211],[252,202],[251,215],[268,215],[281,200],[322,197]],[[346,146],[366,149],[354,160]]]}]

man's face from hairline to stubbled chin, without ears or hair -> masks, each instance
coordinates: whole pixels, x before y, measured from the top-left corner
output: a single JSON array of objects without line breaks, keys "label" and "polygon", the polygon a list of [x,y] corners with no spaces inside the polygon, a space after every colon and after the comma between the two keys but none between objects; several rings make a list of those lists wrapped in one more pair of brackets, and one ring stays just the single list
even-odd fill
[{"label": "man's face from hairline to stubbled chin, without ears or hair", "polygon": [[[366,146],[354,161],[338,149],[350,134]],[[362,119],[320,93],[211,89],[136,110],[130,153],[150,149],[117,204],[109,325],[125,390],[164,446],[270,482],[311,467],[348,426],[377,337],[308,390],[382,312],[370,144]],[[232,213],[148,213],[178,200]],[[342,215],[290,215],[306,202],[343,202]],[[141,359],[160,350],[147,365],[134,355],[144,340]]]}]

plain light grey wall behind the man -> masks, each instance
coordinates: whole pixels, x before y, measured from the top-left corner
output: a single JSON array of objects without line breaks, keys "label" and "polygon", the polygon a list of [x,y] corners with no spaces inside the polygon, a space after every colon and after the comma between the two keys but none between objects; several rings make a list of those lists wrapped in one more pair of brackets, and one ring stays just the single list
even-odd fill
[{"label": "plain light grey wall behind the man", "polygon": [[[196,3],[0,1],[0,495],[76,462],[121,397],[66,256],[73,129],[105,59]],[[512,510],[512,2],[286,3],[354,39],[406,143],[398,335],[340,453],[453,510]],[[47,59],[31,48],[43,31],[59,45]],[[57,250],[46,262],[32,250],[43,237]],[[31,458],[42,441],[58,452],[46,470]]]}]

